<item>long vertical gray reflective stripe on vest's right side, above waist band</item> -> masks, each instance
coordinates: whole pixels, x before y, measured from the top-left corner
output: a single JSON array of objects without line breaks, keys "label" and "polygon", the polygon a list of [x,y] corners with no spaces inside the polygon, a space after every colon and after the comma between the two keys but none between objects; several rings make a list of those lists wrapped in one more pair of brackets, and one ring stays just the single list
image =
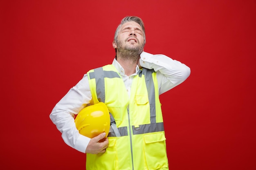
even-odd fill
[{"label": "long vertical gray reflective stripe on vest's right side, above waist band", "polygon": [[156,123],[156,111],[155,111],[155,84],[153,82],[152,73],[155,71],[153,69],[142,69],[142,74],[145,77],[147,91],[148,91],[148,101],[150,107],[150,123]]}]

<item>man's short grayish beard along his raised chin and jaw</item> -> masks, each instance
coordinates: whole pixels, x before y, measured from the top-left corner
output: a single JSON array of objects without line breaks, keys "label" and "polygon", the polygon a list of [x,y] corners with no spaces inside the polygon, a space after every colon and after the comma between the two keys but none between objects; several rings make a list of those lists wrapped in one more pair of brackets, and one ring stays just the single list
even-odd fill
[{"label": "man's short grayish beard along his raised chin and jaw", "polygon": [[120,57],[121,60],[130,61],[132,63],[137,63],[140,54],[143,51],[144,46],[136,46],[131,48],[130,46],[124,46],[121,47],[121,43],[117,43],[117,51],[118,51],[118,57]]}]

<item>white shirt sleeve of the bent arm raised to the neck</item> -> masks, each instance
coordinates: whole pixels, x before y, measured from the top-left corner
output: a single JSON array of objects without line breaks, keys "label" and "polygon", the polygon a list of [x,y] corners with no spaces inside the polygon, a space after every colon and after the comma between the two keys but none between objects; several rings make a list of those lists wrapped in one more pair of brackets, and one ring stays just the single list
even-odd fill
[{"label": "white shirt sleeve of the bent arm raised to the neck", "polygon": [[190,68],[166,55],[142,52],[139,64],[157,72],[159,95],[181,84],[190,75]]}]

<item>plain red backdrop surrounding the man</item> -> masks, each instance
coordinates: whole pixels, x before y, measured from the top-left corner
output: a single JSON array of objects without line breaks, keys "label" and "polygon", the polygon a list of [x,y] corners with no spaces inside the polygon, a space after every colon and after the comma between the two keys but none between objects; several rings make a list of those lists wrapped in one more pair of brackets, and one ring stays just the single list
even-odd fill
[{"label": "plain red backdrop surrounding the man", "polygon": [[171,170],[256,169],[255,0],[1,1],[3,170],[85,169],[49,119],[88,70],[109,64],[126,15],[145,51],[191,68],[160,99]]}]

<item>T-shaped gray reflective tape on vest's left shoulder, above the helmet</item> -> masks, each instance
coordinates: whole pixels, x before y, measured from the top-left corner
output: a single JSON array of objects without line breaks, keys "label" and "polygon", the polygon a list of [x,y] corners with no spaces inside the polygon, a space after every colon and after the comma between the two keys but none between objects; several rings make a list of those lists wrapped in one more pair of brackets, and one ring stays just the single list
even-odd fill
[{"label": "T-shaped gray reflective tape on vest's left shoulder, above the helmet", "polygon": [[94,72],[89,73],[90,79],[95,78],[96,82],[96,93],[99,102],[105,103],[105,77],[108,78],[120,78],[120,76],[115,71],[103,71],[102,67],[95,68]]}]

